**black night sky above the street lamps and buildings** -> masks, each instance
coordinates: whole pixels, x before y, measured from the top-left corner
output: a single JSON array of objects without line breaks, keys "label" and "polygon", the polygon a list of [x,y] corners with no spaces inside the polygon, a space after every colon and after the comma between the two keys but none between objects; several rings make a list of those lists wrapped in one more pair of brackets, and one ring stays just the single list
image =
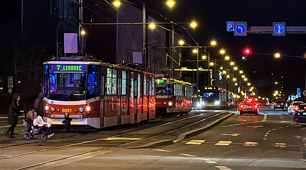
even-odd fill
[{"label": "black night sky above the street lamps and buildings", "polygon": [[[95,11],[93,22],[116,22],[116,11],[109,5],[100,4],[101,8]],[[141,5],[142,1],[130,0]],[[247,21],[248,26],[272,26],[273,21],[284,21],[287,26],[306,26],[305,0],[176,0],[175,6],[169,9],[166,0],[144,0],[146,7],[167,17],[174,22],[189,22],[195,20],[198,27],[195,30],[186,28],[193,38],[202,46],[209,45],[212,39],[216,40],[219,49],[223,47],[226,54],[234,60],[239,69],[244,70],[249,81],[257,87],[261,94],[272,97],[274,90],[280,90],[274,82],[283,81],[286,94],[296,94],[297,87],[305,85],[305,59],[282,57],[275,59],[272,55],[250,54],[247,61],[242,61],[243,49],[250,48],[255,53],[280,52],[281,54],[305,56],[306,34],[286,34],[286,36],[272,36],[272,34],[248,34],[234,36],[233,32],[226,31],[226,21]],[[95,6],[92,0],[85,0],[88,6]],[[112,1],[109,1],[112,3]],[[50,2],[47,0],[25,0],[25,32],[20,46],[27,47],[31,43],[45,43],[47,54],[55,54],[54,23],[51,22]],[[12,2],[5,0],[0,6],[0,79],[11,74],[10,57],[14,54],[17,39],[20,37],[20,5],[21,0]],[[96,6],[97,7],[97,6]],[[85,16],[90,20],[91,16]],[[108,19],[106,19],[108,18]],[[162,20],[162,18],[156,18]],[[101,29],[101,30],[100,30]],[[108,28],[109,29],[109,28]],[[91,30],[92,36],[99,35],[103,28]],[[182,30],[184,36],[188,36]],[[104,37],[112,39],[115,35]],[[90,43],[99,43],[92,39]],[[110,40],[116,50],[116,40]],[[194,44],[193,44],[194,45]],[[95,49],[96,55],[105,53],[105,49]],[[211,49],[211,54],[217,49]],[[112,52],[110,52],[111,54]],[[115,51],[113,52],[115,54]],[[212,55],[214,58],[214,56]],[[272,75],[273,73],[273,75]],[[284,77],[282,80],[281,77]],[[3,83],[0,83],[2,86]]]}]

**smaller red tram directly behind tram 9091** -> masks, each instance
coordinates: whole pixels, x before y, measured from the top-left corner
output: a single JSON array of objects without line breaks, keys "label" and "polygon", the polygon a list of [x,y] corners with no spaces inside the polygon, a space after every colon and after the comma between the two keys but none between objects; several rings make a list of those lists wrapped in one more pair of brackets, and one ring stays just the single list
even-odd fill
[{"label": "smaller red tram directly behind tram 9091", "polygon": [[175,79],[156,79],[157,113],[189,112],[192,109],[192,85]]}]

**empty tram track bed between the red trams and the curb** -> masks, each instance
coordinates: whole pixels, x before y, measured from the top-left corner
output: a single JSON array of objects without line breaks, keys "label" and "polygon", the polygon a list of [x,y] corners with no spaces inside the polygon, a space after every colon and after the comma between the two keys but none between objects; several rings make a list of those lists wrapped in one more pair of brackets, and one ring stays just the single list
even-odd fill
[{"label": "empty tram track bed between the red trams and the curb", "polygon": [[[160,125],[156,125],[149,128],[144,128],[134,132],[129,132],[126,134],[118,134],[113,136],[105,136],[101,138],[95,138],[93,140],[86,139],[86,136],[78,138],[77,136],[71,136],[67,138],[60,138],[49,140],[45,142],[44,149],[37,150],[37,147],[33,143],[25,143],[23,147],[21,146],[8,146],[7,148],[1,148],[1,167],[6,167],[9,162],[15,162],[18,160],[29,160],[29,157],[40,157],[40,161],[32,160],[25,161],[27,164],[20,168],[20,165],[15,165],[11,167],[13,169],[31,169],[50,164],[52,162],[71,159],[80,155],[96,153],[99,151],[108,150],[115,147],[122,147],[124,145],[129,145],[137,142],[149,141],[154,137],[164,136],[167,138],[168,134],[175,132],[182,132],[184,129],[193,128],[193,126],[200,126],[199,123],[209,122],[214,119],[220,119],[228,113],[218,113],[218,112],[206,112],[206,113],[196,113],[193,116],[190,115],[183,119],[177,119]],[[206,122],[206,123],[207,123]],[[173,135],[173,134],[171,134]],[[88,135],[88,137],[91,135]],[[103,136],[103,135],[100,135]],[[97,135],[99,137],[99,135]],[[80,141],[81,140],[81,141]],[[83,140],[83,141],[82,141]],[[65,145],[63,145],[65,143]],[[141,143],[142,144],[142,143]],[[54,146],[55,145],[55,146]],[[22,148],[22,149],[20,149]],[[12,152],[14,151],[14,152]],[[59,155],[59,158],[52,159],[44,157],[43,155],[48,155],[48,153]],[[15,154],[12,154],[15,153]]]}]

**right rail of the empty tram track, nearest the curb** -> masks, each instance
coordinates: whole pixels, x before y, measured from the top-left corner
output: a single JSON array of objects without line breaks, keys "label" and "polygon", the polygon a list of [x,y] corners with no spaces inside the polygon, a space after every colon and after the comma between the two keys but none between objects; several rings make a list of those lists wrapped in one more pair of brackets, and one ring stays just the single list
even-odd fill
[{"label": "right rail of the empty tram track, nearest the curb", "polygon": [[[218,114],[209,116],[207,118],[201,119],[201,120],[196,121],[196,122],[192,122],[192,123],[190,123],[188,125],[185,125],[185,126],[180,127],[180,128],[173,129],[171,131],[168,131],[168,132],[165,132],[165,133],[162,133],[162,134],[145,137],[145,138],[138,139],[138,140],[131,141],[131,142],[126,142],[126,143],[121,143],[121,144],[117,144],[117,145],[113,145],[113,146],[108,146],[108,147],[103,147],[103,148],[99,148],[99,149],[95,149],[95,150],[90,150],[90,151],[86,151],[86,152],[83,152],[83,153],[77,153],[77,154],[73,154],[73,155],[68,155],[68,156],[65,156],[65,157],[62,157],[62,158],[53,159],[53,160],[50,160],[50,161],[45,161],[45,162],[41,162],[41,163],[38,163],[38,164],[34,164],[34,165],[26,166],[26,167],[23,167],[23,168],[19,168],[17,170],[31,170],[31,169],[35,169],[35,168],[40,168],[40,167],[43,167],[45,165],[49,165],[51,163],[56,163],[57,161],[63,161],[63,160],[66,160],[66,159],[71,159],[71,158],[82,156],[82,155],[85,155],[85,154],[93,154],[93,153],[97,153],[99,151],[105,151],[105,150],[108,150],[108,149],[112,149],[112,148],[116,148],[116,147],[121,147],[121,146],[132,144],[132,143],[135,143],[135,142],[139,142],[139,141],[143,141],[143,140],[148,140],[148,139],[153,138],[153,137],[166,135],[166,134],[169,134],[171,132],[184,129],[186,127],[189,127],[191,125],[194,125],[196,123],[202,122],[202,121],[207,120],[207,119],[214,118],[214,117],[219,116],[221,114],[223,114],[223,113],[218,113]],[[125,134],[118,135],[118,136],[123,136],[123,135],[125,135]],[[111,136],[111,137],[116,137],[116,136]],[[106,138],[111,138],[111,137],[106,137]],[[97,139],[97,140],[105,140],[105,139]],[[90,141],[88,141],[88,142],[90,142]],[[88,143],[88,142],[85,142],[85,143]],[[65,146],[63,146],[63,147],[65,147]],[[58,147],[58,148],[63,148],[63,147]],[[56,149],[58,149],[58,148],[56,148]],[[51,149],[49,149],[49,150],[51,150]],[[47,151],[47,150],[45,150],[45,151]],[[23,155],[25,155],[25,154],[23,154]],[[21,156],[21,155],[19,155],[19,156]]]}]

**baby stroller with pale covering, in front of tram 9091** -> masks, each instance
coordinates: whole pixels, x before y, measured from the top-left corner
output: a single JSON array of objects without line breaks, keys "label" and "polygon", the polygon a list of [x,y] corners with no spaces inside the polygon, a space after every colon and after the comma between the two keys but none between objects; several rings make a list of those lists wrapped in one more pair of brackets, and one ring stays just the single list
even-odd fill
[{"label": "baby stroller with pale covering, in front of tram 9091", "polygon": [[23,125],[29,127],[28,131],[24,134],[24,138],[29,139],[35,135],[41,135],[42,139],[49,138],[53,136],[53,133],[48,133],[46,127],[51,127],[51,124],[46,123],[40,116],[37,116],[35,110],[31,110],[26,114],[23,120]]}]

